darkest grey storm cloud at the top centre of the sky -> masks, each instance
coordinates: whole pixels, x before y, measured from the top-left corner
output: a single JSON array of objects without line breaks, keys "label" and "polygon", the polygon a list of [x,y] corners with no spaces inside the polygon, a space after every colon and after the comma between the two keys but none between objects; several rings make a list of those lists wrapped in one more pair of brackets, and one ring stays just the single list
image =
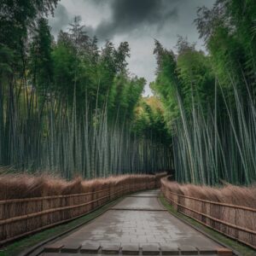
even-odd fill
[{"label": "darkest grey storm cloud at the top centre of the sky", "polygon": [[[112,10],[112,19],[103,20],[96,28],[100,38],[131,32],[145,26],[160,29],[166,20],[177,19],[177,2],[183,0],[107,0]],[[101,3],[101,1],[97,1]]]}]

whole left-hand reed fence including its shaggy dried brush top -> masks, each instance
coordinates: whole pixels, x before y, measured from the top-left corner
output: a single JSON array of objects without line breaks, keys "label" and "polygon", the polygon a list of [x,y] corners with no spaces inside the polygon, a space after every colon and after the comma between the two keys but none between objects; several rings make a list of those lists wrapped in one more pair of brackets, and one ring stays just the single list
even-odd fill
[{"label": "whole left-hand reed fence including its shaggy dried brush top", "polygon": [[[160,177],[125,175],[69,183],[52,177],[1,177],[0,245],[78,218],[122,195],[159,188]],[[18,181],[20,187],[15,187]]]}]

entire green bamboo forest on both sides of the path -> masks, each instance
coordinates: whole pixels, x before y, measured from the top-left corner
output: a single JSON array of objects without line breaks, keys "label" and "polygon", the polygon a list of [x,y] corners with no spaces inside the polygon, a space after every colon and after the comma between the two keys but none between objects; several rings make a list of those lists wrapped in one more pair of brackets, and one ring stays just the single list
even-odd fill
[{"label": "entire green bamboo forest on both sides of the path", "polygon": [[56,4],[2,0],[0,165],[67,178],[174,168],[182,183],[255,182],[254,0],[198,9],[205,51],[182,36],[172,49],[155,40],[151,97],[128,69],[128,42],[100,44],[79,17],[54,38]]}]

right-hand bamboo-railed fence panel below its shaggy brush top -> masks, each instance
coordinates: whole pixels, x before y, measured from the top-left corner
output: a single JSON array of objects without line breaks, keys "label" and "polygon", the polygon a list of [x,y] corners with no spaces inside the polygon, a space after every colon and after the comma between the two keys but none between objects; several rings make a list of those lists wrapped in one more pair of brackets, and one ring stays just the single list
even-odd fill
[{"label": "right-hand bamboo-railed fence panel below its shaggy brush top", "polygon": [[161,178],[161,191],[177,210],[201,224],[256,249],[256,209],[180,195]]}]

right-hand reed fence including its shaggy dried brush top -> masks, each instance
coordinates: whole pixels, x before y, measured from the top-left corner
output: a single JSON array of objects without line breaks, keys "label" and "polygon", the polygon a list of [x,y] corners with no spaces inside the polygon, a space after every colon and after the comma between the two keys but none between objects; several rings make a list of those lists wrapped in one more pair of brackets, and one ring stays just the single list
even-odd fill
[{"label": "right-hand reed fence including its shaggy dried brush top", "polygon": [[213,189],[161,178],[161,191],[178,212],[256,249],[256,188]]}]

